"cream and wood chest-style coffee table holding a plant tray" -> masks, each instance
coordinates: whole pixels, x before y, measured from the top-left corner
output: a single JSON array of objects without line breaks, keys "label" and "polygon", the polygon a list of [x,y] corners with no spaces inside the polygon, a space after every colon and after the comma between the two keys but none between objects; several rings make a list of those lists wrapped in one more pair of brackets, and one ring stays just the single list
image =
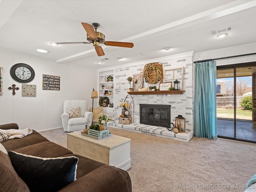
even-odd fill
[{"label": "cream and wood chest-style coffee table holding a plant tray", "polygon": [[100,140],[83,136],[76,132],[67,134],[67,148],[98,162],[109,164],[122,170],[130,170],[131,139],[112,134]]}]

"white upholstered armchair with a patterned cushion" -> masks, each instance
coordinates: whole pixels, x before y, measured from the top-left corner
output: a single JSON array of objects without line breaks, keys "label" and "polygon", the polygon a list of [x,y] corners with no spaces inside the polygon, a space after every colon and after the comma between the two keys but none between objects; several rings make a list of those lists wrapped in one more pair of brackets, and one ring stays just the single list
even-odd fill
[{"label": "white upholstered armchair with a patterned cushion", "polygon": [[87,111],[86,100],[66,100],[64,101],[62,126],[64,131],[79,131],[92,124],[92,112]]}]

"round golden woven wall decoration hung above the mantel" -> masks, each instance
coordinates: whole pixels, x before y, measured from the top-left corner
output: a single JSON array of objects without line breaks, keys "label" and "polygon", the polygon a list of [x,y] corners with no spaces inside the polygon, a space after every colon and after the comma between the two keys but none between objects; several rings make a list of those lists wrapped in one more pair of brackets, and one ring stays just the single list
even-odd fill
[{"label": "round golden woven wall decoration hung above the mantel", "polygon": [[149,84],[156,84],[163,81],[162,63],[148,63],[144,66],[144,78]]}]

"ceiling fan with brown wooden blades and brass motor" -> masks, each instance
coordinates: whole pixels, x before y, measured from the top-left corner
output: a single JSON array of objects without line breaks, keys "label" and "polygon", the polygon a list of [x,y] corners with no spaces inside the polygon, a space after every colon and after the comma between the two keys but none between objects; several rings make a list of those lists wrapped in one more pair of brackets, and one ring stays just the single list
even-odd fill
[{"label": "ceiling fan with brown wooden blades and brass motor", "polygon": [[[128,47],[132,48],[133,43],[128,42],[116,42],[116,41],[105,41],[105,35],[101,32],[98,32],[97,29],[100,26],[98,23],[93,23],[92,25],[88,23],[82,23],[82,26],[87,32],[87,40],[88,42],[59,42],[56,44],[88,44],[92,43],[95,47],[95,50],[98,56],[105,55],[100,44],[104,44],[106,46],[117,46],[117,47]],[[94,31],[95,29],[95,31]]]}]

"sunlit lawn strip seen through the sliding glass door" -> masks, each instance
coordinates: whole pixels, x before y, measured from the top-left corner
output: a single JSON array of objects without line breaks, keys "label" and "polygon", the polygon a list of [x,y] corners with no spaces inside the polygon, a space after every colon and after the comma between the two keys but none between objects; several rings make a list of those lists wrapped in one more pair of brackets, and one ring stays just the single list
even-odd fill
[{"label": "sunlit lawn strip seen through the sliding glass door", "polygon": [[[234,109],[217,108],[217,117],[234,118]],[[236,118],[252,120],[252,111],[237,109]]]}]

